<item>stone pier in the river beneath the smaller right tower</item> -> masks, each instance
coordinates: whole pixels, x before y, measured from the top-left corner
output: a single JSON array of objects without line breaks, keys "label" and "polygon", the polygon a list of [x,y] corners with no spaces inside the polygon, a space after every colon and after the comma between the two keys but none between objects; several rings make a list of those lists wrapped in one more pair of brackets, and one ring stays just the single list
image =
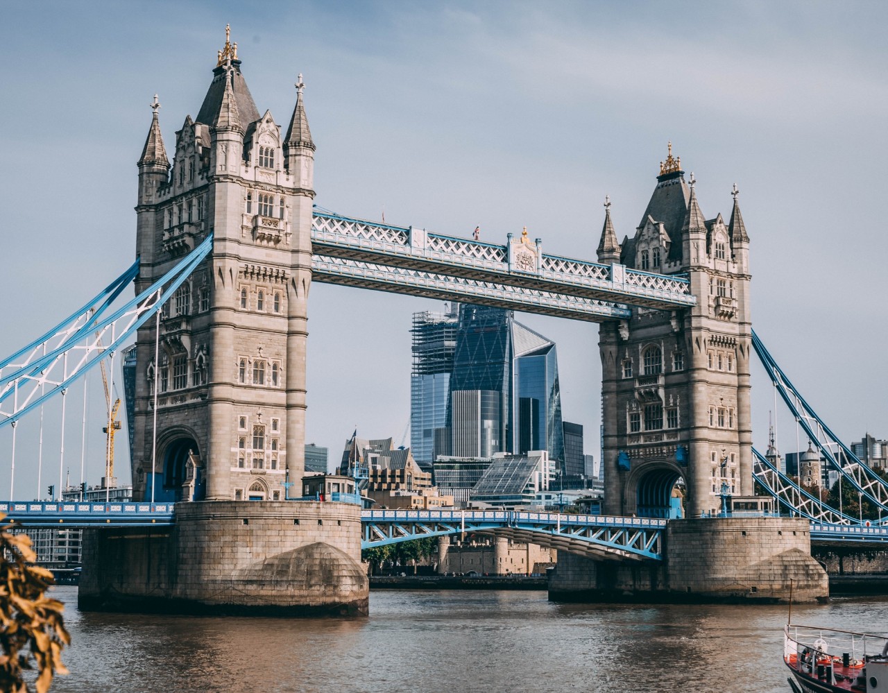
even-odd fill
[{"label": "stone pier in the river beneath the smaller right tower", "polygon": [[673,520],[665,560],[592,561],[559,551],[553,601],[820,601],[829,579],[811,556],[806,520]]}]

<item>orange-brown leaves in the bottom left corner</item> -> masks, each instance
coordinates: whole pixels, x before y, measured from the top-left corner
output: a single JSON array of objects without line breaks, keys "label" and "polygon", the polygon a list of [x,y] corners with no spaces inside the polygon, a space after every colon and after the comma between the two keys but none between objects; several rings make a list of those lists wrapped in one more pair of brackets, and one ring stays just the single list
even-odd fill
[{"label": "orange-brown leaves in the bottom left corner", "polygon": [[33,659],[36,691],[45,693],[54,673],[67,673],[61,663],[61,649],[71,642],[61,616],[65,606],[46,597],[52,573],[33,565],[31,539],[9,527],[0,528],[0,690],[27,693],[22,674],[34,668]]}]

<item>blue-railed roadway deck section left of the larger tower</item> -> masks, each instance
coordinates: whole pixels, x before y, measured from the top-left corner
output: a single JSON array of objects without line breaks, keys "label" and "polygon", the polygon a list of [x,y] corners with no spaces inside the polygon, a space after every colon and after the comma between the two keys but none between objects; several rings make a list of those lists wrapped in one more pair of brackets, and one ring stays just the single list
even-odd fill
[{"label": "blue-railed roadway deck section left of the larger tower", "polygon": [[5,502],[0,513],[21,527],[141,527],[171,525],[172,503]]}]

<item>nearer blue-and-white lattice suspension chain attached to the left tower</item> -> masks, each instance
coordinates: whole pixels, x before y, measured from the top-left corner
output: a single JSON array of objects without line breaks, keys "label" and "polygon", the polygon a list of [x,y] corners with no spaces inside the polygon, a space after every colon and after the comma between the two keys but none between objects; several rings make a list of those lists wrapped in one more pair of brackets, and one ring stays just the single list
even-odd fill
[{"label": "nearer blue-and-white lattice suspension chain attached to the left tower", "polygon": [[[99,320],[98,314],[91,316],[52,351],[8,374],[0,394],[0,405],[5,405],[0,406],[0,428],[14,424],[28,411],[67,389],[77,378],[82,377],[99,363],[107,353],[115,351],[130,339],[210,254],[212,242],[213,237],[210,234],[194,251],[188,253],[185,259],[178,262],[166,275],[124,307],[102,320]],[[104,303],[107,306],[107,300]],[[117,324],[118,321],[121,325]],[[117,330],[118,327],[121,329]],[[102,344],[101,338],[106,332],[110,332],[111,339]],[[71,370],[68,370],[68,354],[81,354],[80,360],[75,361]],[[63,369],[63,372],[60,375],[53,375],[53,370],[59,368]],[[8,403],[10,399],[12,406]]]}]

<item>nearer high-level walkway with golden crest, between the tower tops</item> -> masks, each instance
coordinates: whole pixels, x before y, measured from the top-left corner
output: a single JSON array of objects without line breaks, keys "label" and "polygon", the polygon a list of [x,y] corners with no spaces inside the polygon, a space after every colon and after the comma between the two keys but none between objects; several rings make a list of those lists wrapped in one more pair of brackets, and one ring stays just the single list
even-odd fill
[{"label": "nearer high-level walkway with golden crest, between the tower tops", "polygon": [[336,214],[315,212],[312,243],[318,255],[542,288],[553,294],[662,309],[696,303],[683,277],[626,268],[620,281],[614,282],[610,266],[544,254],[538,272],[514,272],[508,263],[508,246]]}]

